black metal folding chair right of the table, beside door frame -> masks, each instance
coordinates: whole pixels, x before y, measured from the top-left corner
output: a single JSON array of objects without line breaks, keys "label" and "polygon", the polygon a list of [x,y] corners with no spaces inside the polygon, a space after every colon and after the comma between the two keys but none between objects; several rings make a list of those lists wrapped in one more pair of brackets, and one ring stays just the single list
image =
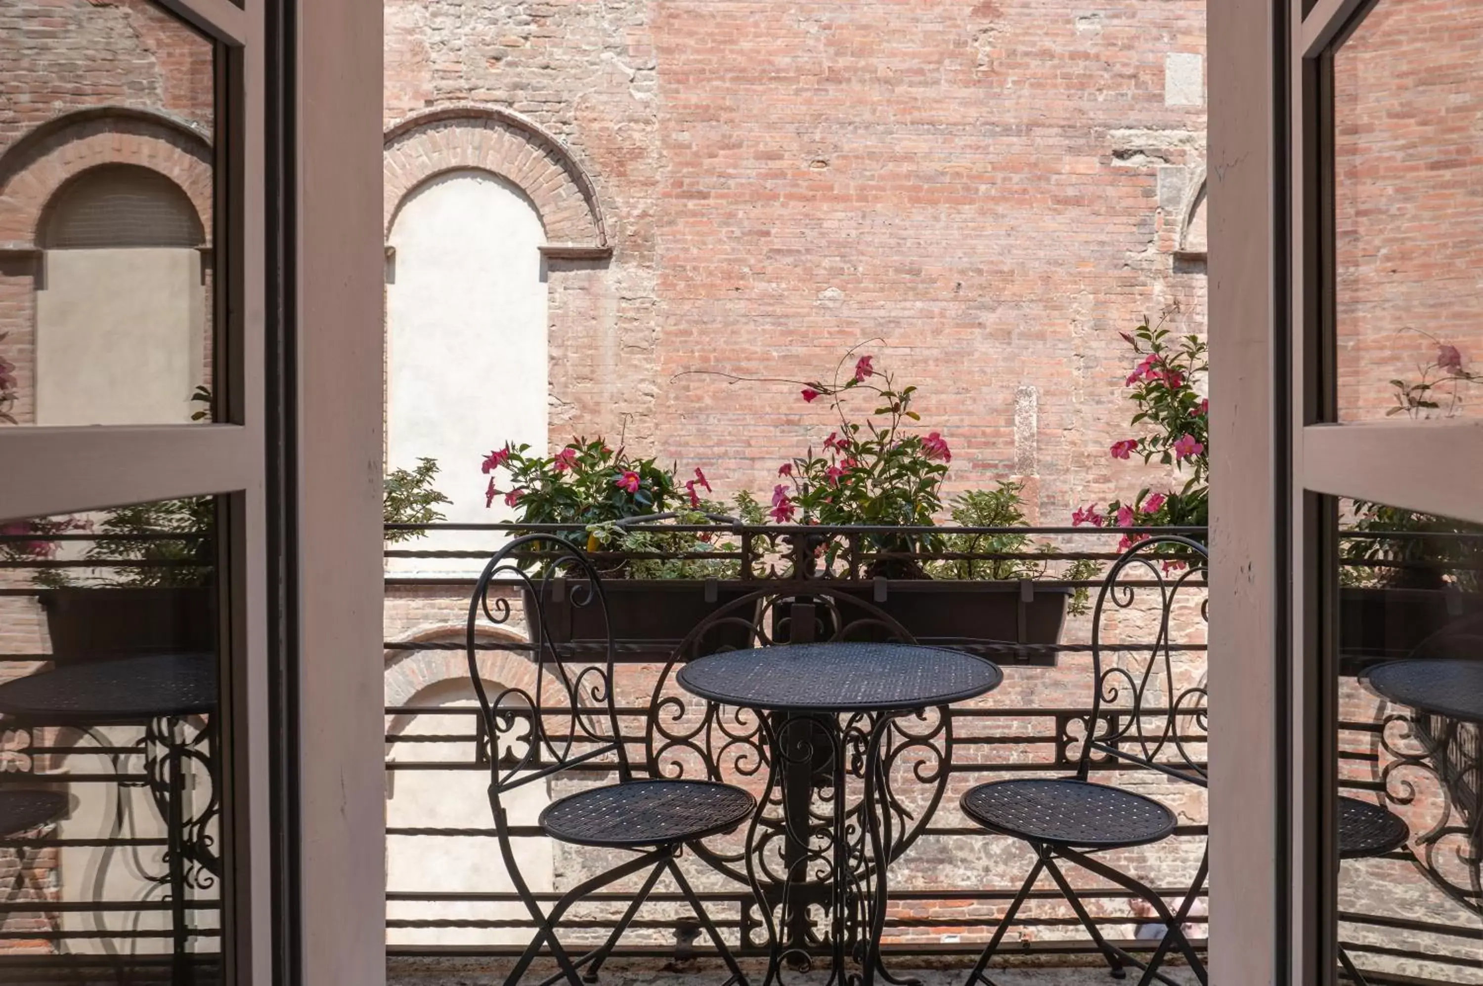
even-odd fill
[{"label": "black metal folding chair right of the table, beside door frame", "polygon": [[[1094,770],[1109,770],[1121,762],[1206,786],[1204,676],[1198,675],[1198,684],[1176,691],[1176,681],[1188,681],[1191,673],[1178,667],[1176,654],[1183,654],[1183,649],[1172,641],[1176,606],[1195,596],[1197,590],[1203,595],[1206,565],[1204,546],[1176,535],[1149,537],[1124,552],[1103,580],[1091,617],[1091,712],[1080,722],[1086,732],[1062,737],[1081,747],[1075,775],[989,781],[962,796],[962,811],[968,818],[992,833],[1020,839],[1035,851],[1035,864],[973,967],[968,986],[976,982],[994,986],[986,974],[988,964],[1041,872],[1050,873],[1106,958],[1114,977],[1123,979],[1124,967],[1133,965],[1143,970],[1140,983],[1157,979],[1178,986],[1176,980],[1158,971],[1169,952],[1178,949],[1198,980],[1207,982],[1204,964],[1183,924],[1203,891],[1209,854],[1201,857],[1185,899],[1170,910],[1151,887],[1093,854],[1167,839],[1175,833],[1175,813],[1145,795],[1090,780]],[[1137,612],[1134,603],[1143,590],[1157,593],[1154,642],[1136,648],[1106,645],[1102,632],[1103,618],[1109,615],[1108,605]],[[1206,617],[1204,599],[1194,605],[1194,612],[1201,620]],[[1152,614],[1142,615],[1148,618]],[[1117,654],[1132,657],[1118,663],[1114,660]],[[1146,961],[1106,940],[1060,863],[1078,866],[1148,901],[1164,925],[1164,934]]]}]

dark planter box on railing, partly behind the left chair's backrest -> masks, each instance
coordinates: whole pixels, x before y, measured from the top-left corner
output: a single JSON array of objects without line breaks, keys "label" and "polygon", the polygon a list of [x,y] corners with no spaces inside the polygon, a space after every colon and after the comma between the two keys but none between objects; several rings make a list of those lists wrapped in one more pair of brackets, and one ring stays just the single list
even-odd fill
[{"label": "dark planter box on railing, partly behind the left chair's backrest", "polygon": [[[580,586],[567,580],[544,584],[546,629],[552,643],[599,648],[604,642],[602,611],[596,600],[572,605],[571,593]],[[608,599],[612,636],[618,642],[618,660],[639,663],[667,661],[701,620],[753,592],[739,583],[703,578],[612,578],[602,583],[602,590]],[[526,590],[528,618],[534,614],[529,596]],[[537,632],[534,624],[531,630],[532,635]],[[703,649],[747,646],[747,638],[740,626],[721,627],[703,641]]]}]

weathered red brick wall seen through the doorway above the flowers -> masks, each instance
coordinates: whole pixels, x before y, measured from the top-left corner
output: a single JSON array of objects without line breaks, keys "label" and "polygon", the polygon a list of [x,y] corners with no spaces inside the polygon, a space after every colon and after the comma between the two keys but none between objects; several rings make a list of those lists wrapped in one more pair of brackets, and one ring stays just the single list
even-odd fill
[{"label": "weathered red brick wall seen through the doorway above the flowers", "polygon": [[1129,417],[1115,331],[1175,302],[1204,322],[1203,261],[1175,257],[1203,179],[1203,4],[390,0],[386,27],[389,126],[507,107],[593,178],[614,255],[553,267],[553,440],[626,429],[765,489],[826,412],[675,375],[816,377],[881,337],[954,488],[1040,474],[1050,522],[1142,485],[1106,455]]}]

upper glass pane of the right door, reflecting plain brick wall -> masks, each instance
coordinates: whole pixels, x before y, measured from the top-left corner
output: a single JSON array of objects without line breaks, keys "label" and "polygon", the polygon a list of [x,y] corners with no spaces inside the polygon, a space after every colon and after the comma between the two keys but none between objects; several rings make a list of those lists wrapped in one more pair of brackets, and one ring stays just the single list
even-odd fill
[{"label": "upper glass pane of the right door, reflecting plain brick wall", "polygon": [[1483,415],[1483,4],[1384,0],[1333,58],[1341,421]]}]

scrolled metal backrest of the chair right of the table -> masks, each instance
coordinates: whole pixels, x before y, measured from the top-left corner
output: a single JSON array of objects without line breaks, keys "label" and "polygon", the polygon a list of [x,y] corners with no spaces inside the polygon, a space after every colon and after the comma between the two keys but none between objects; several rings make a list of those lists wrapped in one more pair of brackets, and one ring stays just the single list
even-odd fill
[{"label": "scrolled metal backrest of the chair right of the table", "polygon": [[1206,651],[1194,638],[1209,621],[1207,575],[1206,547],[1170,534],[1137,541],[1112,563],[1091,614],[1083,780],[1097,761],[1123,761],[1204,786]]}]

